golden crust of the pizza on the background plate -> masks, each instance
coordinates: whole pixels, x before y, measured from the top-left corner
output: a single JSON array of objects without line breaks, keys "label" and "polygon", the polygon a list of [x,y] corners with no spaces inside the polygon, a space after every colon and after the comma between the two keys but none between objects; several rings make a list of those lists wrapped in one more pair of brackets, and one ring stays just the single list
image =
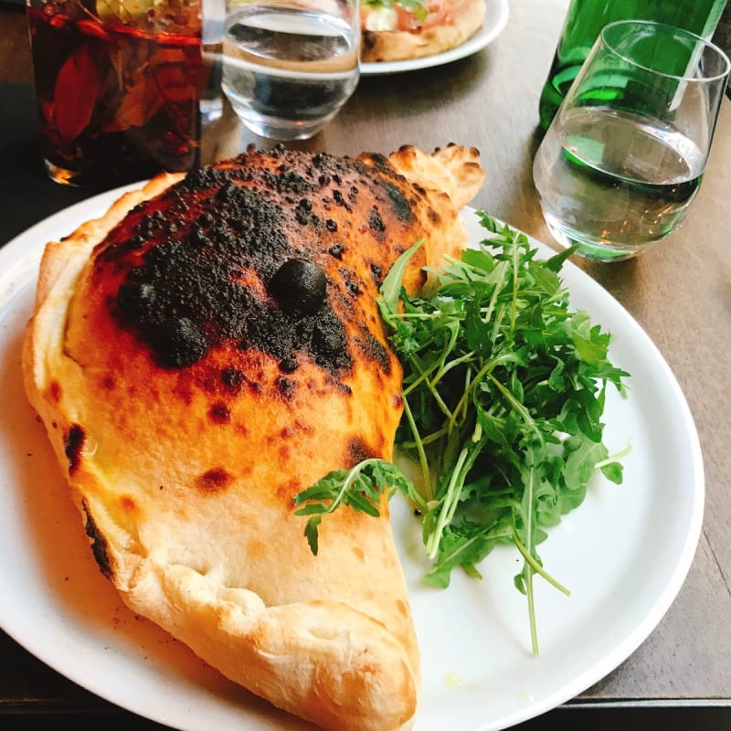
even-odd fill
[{"label": "golden crust of the pizza on the background plate", "polygon": [[364,30],[360,58],[364,63],[436,56],[457,48],[482,27],[484,0],[455,0],[454,21],[417,31]]}]

